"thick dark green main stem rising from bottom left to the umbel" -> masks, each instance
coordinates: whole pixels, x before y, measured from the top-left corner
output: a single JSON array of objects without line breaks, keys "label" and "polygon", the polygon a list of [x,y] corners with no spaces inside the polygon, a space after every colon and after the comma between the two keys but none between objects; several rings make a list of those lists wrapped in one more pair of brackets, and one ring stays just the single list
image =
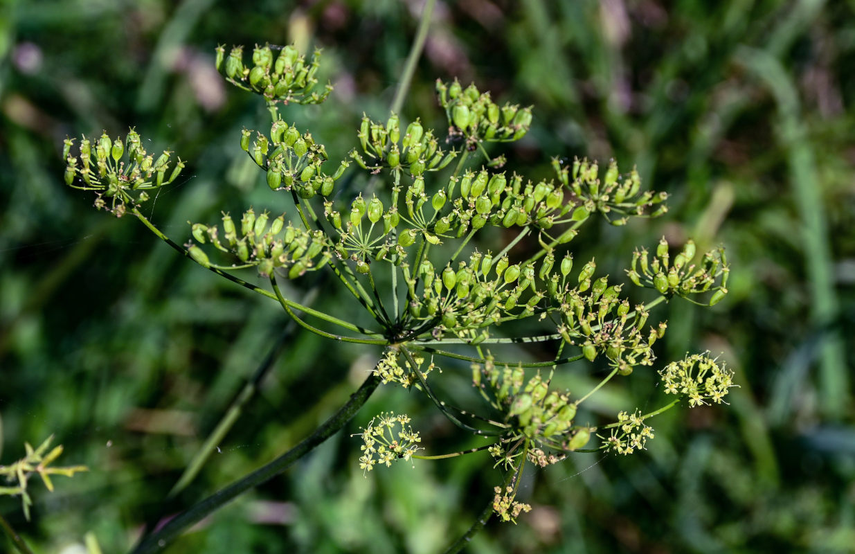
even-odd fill
[{"label": "thick dark green main stem rising from bottom left to the umbel", "polygon": [[262,466],[251,474],[246,475],[243,479],[215,492],[202,502],[181,512],[160,530],[156,531],[156,533],[145,535],[139,542],[139,545],[133,549],[132,554],[150,554],[162,550],[162,548],[178,537],[186,528],[202,521],[205,516],[209,516],[215,510],[219,510],[243,492],[266,483],[276,475],[284,472],[291,467],[292,463],[312,451],[315,446],[320,445],[333,436],[333,434],[338,433],[342,427],[345,427],[347,422],[351,421],[351,418],[363,407],[363,404],[369,399],[371,393],[374,392],[374,389],[378,385],[380,385],[380,378],[371,374],[339,411],[325,421],[321,427],[315,429],[315,432],[310,434],[300,444],[294,446],[290,451],[276,458],[273,462]]}]

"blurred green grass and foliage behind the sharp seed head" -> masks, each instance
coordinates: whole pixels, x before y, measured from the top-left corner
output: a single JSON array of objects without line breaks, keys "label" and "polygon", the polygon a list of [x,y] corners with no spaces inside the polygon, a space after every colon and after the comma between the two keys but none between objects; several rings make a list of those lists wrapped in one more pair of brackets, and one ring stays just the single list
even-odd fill
[{"label": "blurred green grass and foliage behind the sharp seed head", "polygon": [[[189,160],[146,208],[177,242],[186,221],[221,209],[277,209],[237,146],[240,129],[266,127],[268,114],[215,74],[215,45],[323,47],[333,96],[283,115],[334,159],[355,143],[363,111],[385,117],[421,7],[3,0],[0,463],[55,433],[62,460],[91,469],[57,478],[53,493],[32,482],[32,522],[0,498],[37,551],[74,552],[88,531],[105,552],[127,551],[287,323],[277,305],[63,186],[62,139],[136,126],[149,150]],[[521,498],[534,510],[516,526],[492,522],[469,551],[855,551],[853,68],[852,0],[439,1],[404,120],[421,115],[442,134],[433,81],[457,76],[534,104],[532,132],[507,149],[511,168],[544,177],[550,156],[637,165],[671,195],[669,215],[591,225],[576,259],[596,255],[599,271],[619,275],[635,245],[662,235],[725,245],[727,299],[657,310],[669,320],[659,353],[722,353],[740,384],[730,406],[652,421],[646,452],[527,469]],[[321,297],[321,309],[356,313]],[[185,505],[309,433],[379,354],[306,333],[283,345]],[[440,390],[468,393],[469,369],[444,368]],[[567,371],[574,388],[591,378]],[[663,404],[653,377],[636,372],[598,405]],[[348,433],[170,551],[442,551],[492,498],[498,470],[474,455],[363,478],[348,434],[389,409],[413,416],[429,453],[477,445],[421,396],[381,388]]]}]

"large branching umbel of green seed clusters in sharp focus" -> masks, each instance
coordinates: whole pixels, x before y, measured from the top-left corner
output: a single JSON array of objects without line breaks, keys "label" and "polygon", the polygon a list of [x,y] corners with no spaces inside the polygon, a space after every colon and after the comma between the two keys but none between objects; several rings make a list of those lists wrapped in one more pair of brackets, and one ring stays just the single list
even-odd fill
[{"label": "large branching umbel of green seed clusters in sharp focus", "polygon": [[[417,48],[413,51],[417,55]],[[221,57],[221,48],[217,52]],[[282,99],[286,92],[291,94],[290,89],[282,94],[276,93],[272,88],[276,82],[303,86],[319,67],[319,53],[316,52],[309,76],[299,73],[303,64],[295,60],[303,58],[293,48],[286,48],[279,58],[285,59],[284,64],[277,62],[277,69],[268,82],[272,63],[270,48],[256,49],[253,62],[257,65],[252,70],[242,68],[240,52],[241,49],[236,47],[227,61],[228,78],[234,85],[245,88],[233,78],[238,74],[249,74],[255,87],[253,90],[262,92],[268,98],[268,104],[276,98]],[[292,70],[299,76],[287,73]],[[253,78],[256,73],[261,76]],[[522,139],[531,125],[531,110],[518,109],[510,104],[499,109],[490,100],[489,93],[481,93],[475,85],[461,90],[457,81],[447,86],[439,83],[437,90],[439,103],[449,117],[450,135],[445,142],[450,143],[462,134],[466,138],[463,150],[444,152],[439,148],[439,140],[433,130],[424,130],[418,119],[410,123],[402,136],[397,115],[390,115],[386,126],[363,117],[357,138],[364,154],[373,162],[369,167],[356,150],[351,150],[351,158],[359,168],[369,172],[369,183],[380,185],[386,180],[391,186],[378,186],[380,197],[374,193],[369,200],[363,198],[362,192],[357,193],[349,201],[350,212],[346,218],[342,218],[341,213],[346,213],[348,200],[346,196],[341,197],[342,191],[337,190],[335,184],[345,175],[349,163],[343,160],[335,174],[326,174],[322,164],[328,156],[323,144],[316,142],[310,133],[300,133],[294,125],[287,125],[278,112],[271,110],[273,123],[269,136],[257,133],[256,141],[249,144],[252,133],[245,130],[240,147],[259,168],[268,172],[269,188],[273,192],[286,193],[299,215],[299,222],[296,225],[291,221],[286,223],[284,215],[280,215],[268,227],[268,212],[256,215],[250,208],[241,217],[238,233],[230,215],[223,215],[225,245],[219,239],[218,227],[192,223],[195,243],[187,246],[186,254],[203,268],[262,292],[228,273],[257,266],[258,273],[268,278],[282,308],[299,325],[321,337],[343,340],[345,337],[323,331],[298,317],[293,309],[304,309],[304,306],[287,300],[278,284],[279,277],[294,280],[308,271],[331,268],[343,292],[351,292],[379,330],[365,331],[357,326],[357,322],[342,321],[335,313],[313,310],[310,315],[345,329],[360,330],[364,337],[347,337],[351,342],[385,345],[387,348],[386,355],[375,364],[373,376],[366,380],[363,389],[370,394],[377,380],[416,388],[463,431],[492,438],[492,445],[457,454],[489,450],[493,457],[499,458],[508,474],[504,478],[505,484],[499,487],[500,491],[504,487],[504,491],[497,492],[492,502],[493,510],[504,521],[516,522],[522,511],[530,510],[528,504],[516,501],[518,480],[527,461],[541,467],[557,463],[566,453],[584,447],[591,433],[601,427],[612,428],[612,434],[600,447],[605,451],[628,454],[644,449],[646,439],[653,436],[651,427],[644,421],[673,407],[676,401],[647,415],[636,411],[628,416],[621,411],[615,423],[600,427],[578,424],[575,421],[577,410],[582,402],[617,374],[626,377],[637,366],[653,364],[656,357],[652,345],[663,337],[666,327],[662,322],[656,327],[645,328],[648,309],[675,293],[685,297],[689,293],[714,290],[717,302],[727,292],[725,285],[729,268],[723,259],[722,249],[706,254],[697,269],[694,265],[687,265],[695,255],[692,242],[687,243],[675,257],[673,265],[669,265],[669,245],[663,240],[649,269],[646,251],[635,256],[640,258],[642,274],[662,296],[647,305],[640,304],[632,313],[629,312],[628,299],[620,297],[621,285],[609,285],[607,276],[593,280],[596,267],[593,260],[581,268],[575,280],[570,280],[572,256],[565,253],[565,245],[575,239],[590,215],[600,213],[612,225],[624,226],[628,215],[647,215],[667,195],[641,192],[638,174],[633,171],[621,175],[614,162],[601,177],[595,163],[576,160],[569,170],[553,160],[557,182],[541,180],[536,185],[516,173],[509,179],[504,171],[491,172],[485,168],[475,168],[474,171],[467,165],[470,152],[481,150],[484,162],[497,165],[481,144],[494,139]],[[315,100],[320,101],[321,98]],[[69,150],[71,141],[66,145]],[[150,172],[153,168],[159,175],[156,186],[163,185],[162,174],[168,159],[168,153],[164,153],[153,166],[146,163],[144,152],[139,150],[139,136],[133,132],[127,138],[128,155],[137,164],[133,168],[124,169],[124,164],[119,163],[124,150],[121,138],[116,139],[111,150],[106,134],[97,146],[99,174],[102,177],[118,175],[112,179],[116,185],[107,188],[104,194],[108,197],[122,195],[119,201],[122,207],[131,201],[125,192],[127,188],[134,190],[148,185],[139,176],[140,171]],[[112,151],[113,161],[118,165],[107,166],[108,151]],[[457,156],[459,161],[450,175],[434,179],[433,175],[426,174],[441,171]],[[96,188],[101,191],[103,188],[93,186],[95,182],[90,176],[89,157],[89,144],[84,139],[80,147],[82,168],[77,168],[76,159],[69,156],[67,176],[70,177],[67,177],[67,183],[83,190]],[[503,159],[501,165],[505,162]],[[181,163],[176,167],[180,169]],[[428,180],[427,176],[431,179]],[[78,185],[80,181],[85,186]],[[118,185],[126,181],[129,186]],[[320,205],[313,205],[316,197],[321,197],[322,219],[316,215]],[[100,208],[103,200],[100,196],[98,199],[101,202],[96,205]],[[133,215],[161,239],[180,250],[139,211],[136,203],[132,201],[132,204]],[[124,213],[123,208],[117,212],[115,206],[111,211],[115,215]],[[624,216],[611,219],[615,213]],[[665,209],[660,206],[651,215],[663,213]],[[516,238],[504,243],[495,257],[491,250],[482,253],[477,247],[471,247],[478,244],[480,232],[489,227],[517,231]],[[535,233],[540,249],[520,259],[512,250],[514,245]],[[231,265],[212,263],[203,247],[206,244],[237,259]],[[459,260],[466,250],[469,250],[469,261]],[[553,273],[556,256],[563,256],[568,262]],[[388,285],[380,281],[386,274],[390,275]],[[639,281],[635,268],[631,274],[636,275],[635,281]],[[716,282],[720,277],[721,282]],[[270,296],[269,292],[267,296]],[[546,334],[509,336],[499,332],[501,323],[533,319],[542,323],[529,323],[529,327],[545,327]],[[494,338],[497,336],[500,338]],[[467,356],[443,350],[449,339],[456,341],[451,344],[474,346],[475,351]],[[557,344],[555,359],[534,364],[523,364],[516,359],[496,360],[490,347],[508,340]],[[421,354],[421,360],[416,360],[415,353]],[[428,373],[433,362],[422,371],[424,357],[428,354],[474,362],[473,384],[498,415],[459,410],[440,400],[433,391],[433,385],[428,385]],[[553,375],[562,371],[564,364],[579,362],[583,358],[593,362],[599,355],[607,358],[612,370],[590,392],[572,398],[569,392],[552,386]],[[405,361],[403,365],[401,359]],[[698,358],[691,360],[684,364],[685,367],[681,366],[681,386],[671,385],[675,379],[674,371],[664,374],[666,385],[669,385],[667,392],[685,394],[689,404],[694,406],[702,404],[699,386],[703,386],[707,398],[721,403],[722,396],[732,386],[730,374],[722,374],[714,362],[703,358],[699,362],[700,383],[695,383],[691,364]],[[713,377],[704,381],[704,374],[711,363],[715,368]],[[511,370],[510,367],[515,365],[516,369]],[[529,371],[526,374],[523,365],[529,368],[549,367],[549,374],[545,377],[540,372]],[[722,375],[727,376],[728,382],[719,382]],[[435,376],[432,381],[437,379]],[[352,415],[360,405],[351,400],[343,410]],[[410,422],[409,416],[381,414],[379,417],[380,423],[376,427],[372,420],[363,430],[361,469],[367,472],[378,462],[390,466],[397,459],[426,458],[416,454],[416,443],[421,442],[419,434],[409,426],[404,427]],[[346,422],[339,418],[335,421],[339,426]],[[398,433],[392,431],[396,424],[401,426]],[[620,429],[618,435],[615,434],[616,428]],[[314,440],[318,433],[321,433],[321,428],[310,436],[310,440]],[[550,453],[546,454],[547,451]],[[280,467],[276,463],[274,466]],[[257,482],[260,481],[250,475],[233,490],[243,491],[245,486]],[[190,508],[186,511],[186,518],[177,518],[161,531],[150,534],[137,551],[150,551],[148,545],[162,544],[182,527],[198,521],[223,502],[214,499],[198,504],[198,508]],[[454,550],[452,546],[451,551]]]}]

